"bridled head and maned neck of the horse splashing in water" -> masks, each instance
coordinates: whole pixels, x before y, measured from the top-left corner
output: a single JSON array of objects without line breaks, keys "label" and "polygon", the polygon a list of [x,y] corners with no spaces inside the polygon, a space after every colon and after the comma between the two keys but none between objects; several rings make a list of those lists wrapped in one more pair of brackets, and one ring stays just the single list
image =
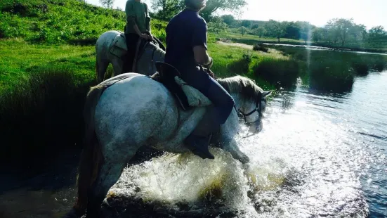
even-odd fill
[{"label": "bridled head and maned neck of the horse splashing in water", "polygon": [[243,115],[249,131],[256,134],[263,128],[262,117],[266,108],[266,98],[272,91],[263,91],[252,79],[230,77],[218,82],[235,98],[237,110]]}]

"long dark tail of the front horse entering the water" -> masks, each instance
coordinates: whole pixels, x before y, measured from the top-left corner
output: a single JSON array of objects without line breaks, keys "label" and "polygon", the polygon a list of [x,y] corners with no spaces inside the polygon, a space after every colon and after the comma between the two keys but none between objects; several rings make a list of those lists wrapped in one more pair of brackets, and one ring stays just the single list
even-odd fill
[{"label": "long dark tail of the front horse entering the water", "polygon": [[100,143],[94,129],[94,113],[100,96],[105,91],[105,86],[93,86],[86,96],[84,106],[84,148],[79,160],[77,175],[78,199],[74,209],[77,214],[84,214],[88,203],[88,191],[98,177],[100,165],[103,161],[103,154]]}]

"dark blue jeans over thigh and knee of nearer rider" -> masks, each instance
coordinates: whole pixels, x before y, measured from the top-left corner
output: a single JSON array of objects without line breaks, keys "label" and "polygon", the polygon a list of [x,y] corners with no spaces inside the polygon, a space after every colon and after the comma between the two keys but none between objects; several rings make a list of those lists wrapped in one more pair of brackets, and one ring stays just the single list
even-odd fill
[{"label": "dark blue jeans over thigh and knee of nearer rider", "polygon": [[210,77],[204,70],[193,70],[191,72],[182,73],[182,78],[190,84],[190,86],[199,90],[209,98],[214,104],[214,110],[211,117],[214,117],[216,124],[224,124],[234,108],[234,99],[227,91]]}]

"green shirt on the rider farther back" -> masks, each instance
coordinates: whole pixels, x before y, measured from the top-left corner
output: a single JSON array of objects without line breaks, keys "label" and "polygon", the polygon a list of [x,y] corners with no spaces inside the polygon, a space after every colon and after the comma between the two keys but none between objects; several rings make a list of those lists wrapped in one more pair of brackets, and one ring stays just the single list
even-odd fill
[{"label": "green shirt on the rider farther back", "polygon": [[133,26],[137,24],[140,32],[150,32],[150,15],[147,4],[141,1],[128,0],[125,6],[126,27],[125,33],[136,33]]}]

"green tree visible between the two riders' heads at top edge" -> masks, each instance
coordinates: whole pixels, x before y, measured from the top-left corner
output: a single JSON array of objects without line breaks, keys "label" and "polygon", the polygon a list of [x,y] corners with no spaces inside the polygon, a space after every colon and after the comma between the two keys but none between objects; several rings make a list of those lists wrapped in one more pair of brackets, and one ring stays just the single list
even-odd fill
[{"label": "green tree visible between the two riders' heads at top edge", "polygon": [[182,0],[152,0],[152,9],[157,11],[157,18],[169,21],[184,8]]}]

